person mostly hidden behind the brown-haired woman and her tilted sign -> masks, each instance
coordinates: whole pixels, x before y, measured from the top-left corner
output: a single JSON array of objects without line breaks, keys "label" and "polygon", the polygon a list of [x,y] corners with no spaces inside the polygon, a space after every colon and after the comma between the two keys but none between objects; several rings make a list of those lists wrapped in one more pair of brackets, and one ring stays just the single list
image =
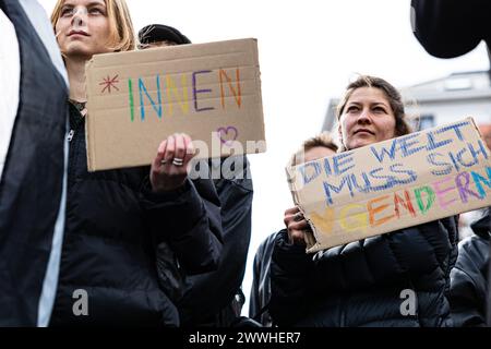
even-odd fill
[{"label": "person mostly hidden behind the brown-haired woman and her tilted sign", "polygon": [[[336,154],[337,145],[327,133],[321,133],[303,142],[300,149],[294,154],[288,166],[294,167],[302,163],[313,161]],[[298,207],[285,212],[285,225],[288,227]],[[268,236],[258,248],[252,269],[252,287],[249,303],[249,316],[263,326],[272,326],[273,322],[267,305],[271,298],[270,265],[274,241],[277,232]]]}]

